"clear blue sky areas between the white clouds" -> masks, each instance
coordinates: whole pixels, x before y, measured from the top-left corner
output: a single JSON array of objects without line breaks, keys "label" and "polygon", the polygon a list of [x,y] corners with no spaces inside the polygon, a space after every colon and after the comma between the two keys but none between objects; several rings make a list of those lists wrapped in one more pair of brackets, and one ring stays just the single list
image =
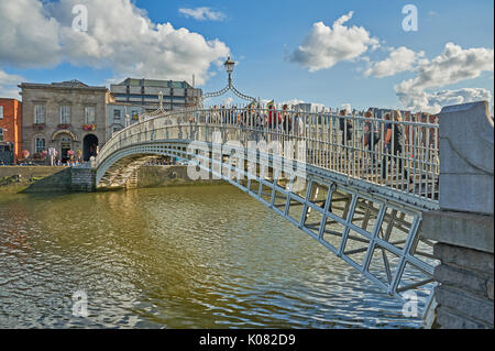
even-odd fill
[{"label": "clear blue sky areas between the white clouds", "polygon": [[[3,3],[7,7],[4,3],[7,1],[10,0],[0,0],[0,6]],[[136,0],[133,3],[135,8],[145,10],[146,14],[142,15],[147,17],[154,24],[169,22],[175,30],[185,28],[189,32],[200,34],[206,41],[218,40],[223,43],[230,50],[234,61],[239,63],[234,72],[238,88],[248,95],[262,99],[275,99],[279,102],[299,99],[319,102],[327,107],[338,107],[342,103],[351,103],[352,107],[360,109],[370,106],[403,107],[404,101],[399,100],[395,86],[414,79],[417,76],[415,69],[419,67],[418,63],[416,67],[388,77],[377,78],[373,75],[365,77],[363,74],[371,65],[386,59],[393,50],[402,46],[415,53],[424,52],[421,59],[432,61],[444,52],[447,43],[453,43],[463,51],[470,48],[491,51],[493,61],[494,3],[487,0],[469,2],[452,0]],[[402,10],[407,3],[415,4],[418,9],[417,32],[405,32],[402,28],[406,17]],[[55,1],[53,6],[58,6],[58,1]],[[179,12],[179,9],[201,7],[220,12],[224,18],[200,21]],[[323,22],[324,25],[332,28],[338,19],[351,11],[352,18],[344,25],[362,28],[370,37],[378,41],[380,47],[374,50],[369,47],[352,59],[342,59],[331,67],[316,72],[309,72],[307,66],[289,59],[310,35],[314,23]],[[91,22],[91,10],[89,18]],[[64,22],[62,19],[58,21]],[[109,30],[111,28],[110,25]],[[4,34],[0,34],[0,43],[1,35]],[[125,70],[125,67],[120,67],[120,70],[116,72],[116,63],[120,62],[120,57],[112,57],[109,64],[102,63],[107,62],[106,59],[95,64],[91,59],[80,59],[76,63],[77,59],[72,59],[69,63],[70,59],[61,58],[56,64],[19,65],[12,59],[9,61],[9,57],[6,57],[9,56],[7,53],[2,55],[1,52],[8,50],[6,46],[0,47],[0,77],[3,72],[9,77],[21,77],[25,81],[51,83],[76,78],[91,85],[105,85],[109,79],[122,78],[123,72],[130,72]],[[221,55],[222,50],[218,48],[217,53]],[[218,55],[212,55],[215,57],[210,58],[210,68],[204,72],[205,81],[201,81],[204,84],[200,87],[205,91],[219,90],[226,85],[226,75],[217,65],[220,62]],[[165,66],[167,64],[168,62]],[[160,67],[155,72],[160,72]],[[191,75],[193,72],[184,73],[185,77]],[[453,76],[458,76],[458,73]],[[466,77],[461,80],[446,80],[438,86],[420,84],[418,86],[427,94],[471,88],[487,90],[493,96],[493,64],[492,68],[486,68],[486,65],[484,68],[472,68]],[[146,78],[154,77],[146,76]],[[11,81],[12,79],[9,80],[10,84]],[[0,89],[1,84],[0,79]],[[6,87],[7,84],[4,83],[3,86]],[[477,92],[480,91],[476,90]],[[429,101],[433,100],[438,99],[432,98]],[[468,100],[469,98],[465,99]]]}]

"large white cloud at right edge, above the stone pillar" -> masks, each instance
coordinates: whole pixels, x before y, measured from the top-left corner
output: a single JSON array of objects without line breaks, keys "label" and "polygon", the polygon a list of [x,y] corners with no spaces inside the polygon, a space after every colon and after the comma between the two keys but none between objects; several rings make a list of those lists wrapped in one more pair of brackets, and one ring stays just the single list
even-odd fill
[{"label": "large white cloud at right edge, above the stone pillar", "polygon": [[422,59],[416,68],[416,77],[395,86],[395,91],[406,109],[439,112],[442,106],[458,102],[491,100],[492,94],[482,88],[460,90],[443,90],[427,92],[457,84],[466,79],[474,79],[483,72],[494,70],[493,48],[468,48],[448,43],[443,53],[431,61]]}]

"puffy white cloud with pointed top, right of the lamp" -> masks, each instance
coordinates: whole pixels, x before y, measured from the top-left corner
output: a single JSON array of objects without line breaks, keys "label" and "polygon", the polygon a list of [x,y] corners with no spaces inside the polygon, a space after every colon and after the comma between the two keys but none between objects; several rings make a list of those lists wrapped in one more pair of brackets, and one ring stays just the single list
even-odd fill
[{"label": "puffy white cloud with pointed top, right of the lamp", "polygon": [[323,22],[315,23],[312,31],[288,59],[309,72],[331,68],[341,61],[352,61],[370,47],[380,46],[378,41],[370,36],[362,26],[345,26],[353,12],[342,15],[332,28]]}]

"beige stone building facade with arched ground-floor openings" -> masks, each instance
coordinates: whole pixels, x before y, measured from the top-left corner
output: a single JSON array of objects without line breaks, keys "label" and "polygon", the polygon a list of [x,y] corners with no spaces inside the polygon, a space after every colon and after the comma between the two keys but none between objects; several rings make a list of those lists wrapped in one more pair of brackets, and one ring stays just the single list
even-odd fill
[{"label": "beige stone building facade with arched ground-floor openings", "polygon": [[90,87],[78,80],[22,83],[22,143],[31,155],[55,149],[66,162],[73,151],[84,161],[96,156],[107,140],[106,87]]}]

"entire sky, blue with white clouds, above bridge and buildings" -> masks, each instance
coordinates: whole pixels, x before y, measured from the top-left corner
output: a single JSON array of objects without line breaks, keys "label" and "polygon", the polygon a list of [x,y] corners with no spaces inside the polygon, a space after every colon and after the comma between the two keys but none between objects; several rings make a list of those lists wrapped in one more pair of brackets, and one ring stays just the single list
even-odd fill
[{"label": "entire sky, blue with white clouds, above bridge and buildings", "polygon": [[21,81],[193,75],[218,91],[232,56],[235,87],[279,103],[492,106],[493,13],[492,0],[0,0],[0,97]]}]

